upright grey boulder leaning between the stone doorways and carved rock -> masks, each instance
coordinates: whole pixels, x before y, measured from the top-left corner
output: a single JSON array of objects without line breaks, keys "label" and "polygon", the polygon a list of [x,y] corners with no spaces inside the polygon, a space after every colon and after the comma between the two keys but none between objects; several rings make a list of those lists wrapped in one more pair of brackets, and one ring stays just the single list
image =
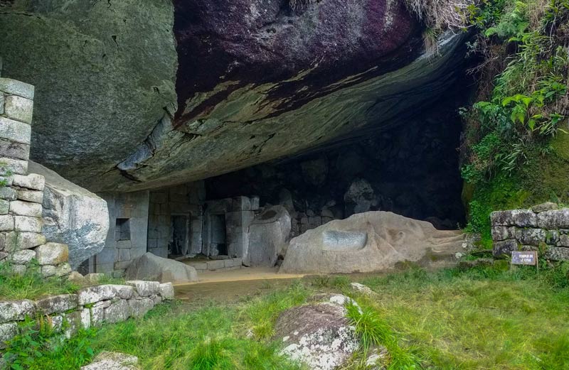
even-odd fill
[{"label": "upright grey boulder leaning between the stone doorways and carved rock", "polygon": [[290,235],[289,212],[280,205],[263,210],[249,225],[245,266],[275,266]]}]

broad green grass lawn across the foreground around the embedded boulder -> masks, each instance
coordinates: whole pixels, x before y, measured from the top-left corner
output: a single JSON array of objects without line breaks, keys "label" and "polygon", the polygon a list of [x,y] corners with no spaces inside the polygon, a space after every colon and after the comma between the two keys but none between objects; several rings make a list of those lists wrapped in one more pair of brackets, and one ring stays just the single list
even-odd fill
[{"label": "broad green grass lawn across the foreground around the embedded boulder", "polygon": [[[312,293],[340,290],[361,307],[348,308],[362,345],[346,370],[365,369],[365,354],[378,344],[389,350],[388,369],[567,369],[568,273],[568,263],[540,273],[510,272],[506,263],[307,278],[238,303],[159,305],[140,320],[82,332],[55,347],[52,341],[49,349],[29,345],[47,340],[36,333],[9,351],[33,348],[23,351],[28,369],[77,369],[103,350],[134,354],[144,369],[302,369],[278,355],[275,320]],[[350,290],[354,279],[378,295]]]}]

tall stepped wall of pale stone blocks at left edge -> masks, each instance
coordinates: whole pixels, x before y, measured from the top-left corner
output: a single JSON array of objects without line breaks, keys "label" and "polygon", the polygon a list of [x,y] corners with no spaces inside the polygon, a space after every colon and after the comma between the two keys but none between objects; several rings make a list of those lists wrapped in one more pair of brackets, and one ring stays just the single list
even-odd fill
[{"label": "tall stepped wall of pale stone blocks at left edge", "polygon": [[0,78],[0,263],[25,273],[35,259],[44,277],[71,272],[68,246],[42,234],[45,179],[28,175],[34,88]]}]

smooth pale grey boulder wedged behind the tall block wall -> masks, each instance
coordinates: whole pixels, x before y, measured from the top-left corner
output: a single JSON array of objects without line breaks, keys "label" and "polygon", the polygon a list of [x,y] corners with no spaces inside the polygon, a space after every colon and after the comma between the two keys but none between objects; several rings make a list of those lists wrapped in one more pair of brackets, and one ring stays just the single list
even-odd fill
[{"label": "smooth pale grey boulder wedged behind the tall block wall", "polygon": [[43,188],[43,229],[48,241],[67,244],[73,269],[105,248],[109,232],[107,202],[65,180],[52,170],[29,161],[28,171],[46,178]]}]

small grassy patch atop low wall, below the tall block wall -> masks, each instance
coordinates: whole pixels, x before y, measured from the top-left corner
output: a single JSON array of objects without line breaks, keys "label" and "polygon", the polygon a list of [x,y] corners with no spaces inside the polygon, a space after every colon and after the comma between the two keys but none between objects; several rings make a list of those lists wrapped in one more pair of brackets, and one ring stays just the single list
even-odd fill
[{"label": "small grassy patch atop low wall, below the tall block wall", "polygon": [[64,278],[42,278],[39,266],[33,261],[23,275],[12,273],[10,263],[0,263],[0,300],[33,300],[46,295],[75,293],[79,288]]}]

